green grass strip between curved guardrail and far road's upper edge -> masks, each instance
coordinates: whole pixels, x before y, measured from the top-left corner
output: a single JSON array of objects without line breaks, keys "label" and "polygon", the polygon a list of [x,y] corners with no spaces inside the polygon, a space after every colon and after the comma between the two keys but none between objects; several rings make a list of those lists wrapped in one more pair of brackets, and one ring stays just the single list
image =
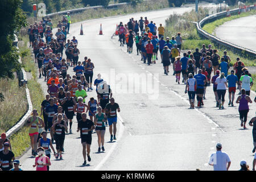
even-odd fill
[{"label": "green grass strip between curved guardrail and far road's upper edge", "polygon": [[240,15],[233,15],[233,16],[222,18],[222,19],[218,19],[212,23],[205,24],[203,27],[203,30],[208,32],[209,34],[213,34],[215,28],[217,28],[218,26],[221,26],[225,22],[228,22],[230,20],[237,19],[237,18],[242,18],[245,16],[255,15],[255,14],[256,14],[256,11],[252,10],[252,11],[248,11],[246,13],[241,13]]}]

